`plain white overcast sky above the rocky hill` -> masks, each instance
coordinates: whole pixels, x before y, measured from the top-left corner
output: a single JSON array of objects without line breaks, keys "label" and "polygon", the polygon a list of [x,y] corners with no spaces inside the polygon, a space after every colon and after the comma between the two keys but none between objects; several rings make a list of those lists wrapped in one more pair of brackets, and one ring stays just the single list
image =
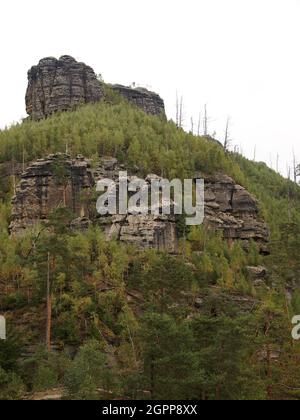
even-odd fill
[{"label": "plain white overcast sky above the rocky hill", "polygon": [[27,70],[74,56],[105,81],[176,91],[186,128],[207,104],[210,130],[281,170],[300,161],[300,0],[2,0],[0,127],[25,116]]}]

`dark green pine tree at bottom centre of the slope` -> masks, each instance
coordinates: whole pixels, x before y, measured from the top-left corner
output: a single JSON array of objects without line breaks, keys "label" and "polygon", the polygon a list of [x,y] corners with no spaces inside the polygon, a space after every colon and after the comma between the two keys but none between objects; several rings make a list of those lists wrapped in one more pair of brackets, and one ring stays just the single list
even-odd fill
[{"label": "dark green pine tree at bottom centre of the slope", "polygon": [[199,398],[204,372],[189,324],[150,312],[142,319],[141,334],[143,378],[150,398]]}]

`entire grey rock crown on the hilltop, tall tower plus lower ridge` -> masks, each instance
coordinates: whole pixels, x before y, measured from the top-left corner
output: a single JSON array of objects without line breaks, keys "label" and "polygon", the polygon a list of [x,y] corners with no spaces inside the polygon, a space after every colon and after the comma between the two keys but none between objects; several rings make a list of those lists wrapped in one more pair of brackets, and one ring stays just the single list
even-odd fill
[{"label": "entire grey rock crown on the hilltop, tall tower plus lower ridge", "polygon": [[[157,94],[120,85],[111,88],[147,114],[165,115],[164,101]],[[104,99],[104,84],[97,79],[94,70],[68,55],[58,60],[43,58],[28,72],[26,111],[33,120]]]}]

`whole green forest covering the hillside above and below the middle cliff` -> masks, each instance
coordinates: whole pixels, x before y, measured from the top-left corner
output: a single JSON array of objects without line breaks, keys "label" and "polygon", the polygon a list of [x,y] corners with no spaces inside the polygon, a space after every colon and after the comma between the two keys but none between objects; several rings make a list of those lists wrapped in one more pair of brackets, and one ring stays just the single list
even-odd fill
[{"label": "whole green forest covering the hillside above and below the middle cliff", "polygon": [[[141,175],[225,173],[259,201],[270,255],[203,226],[174,257],[70,228],[58,208],[36,237],[10,236],[13,176],[6,164],[69,151],[114,156]],[[205,137],[111,94],[41,122],[0,132],[0,398],[60,389],[66,399],[300,399],[300,187]],[[254,284],[248,266],[268,277]],[[45,345],[47,280],[52,346]]]}]

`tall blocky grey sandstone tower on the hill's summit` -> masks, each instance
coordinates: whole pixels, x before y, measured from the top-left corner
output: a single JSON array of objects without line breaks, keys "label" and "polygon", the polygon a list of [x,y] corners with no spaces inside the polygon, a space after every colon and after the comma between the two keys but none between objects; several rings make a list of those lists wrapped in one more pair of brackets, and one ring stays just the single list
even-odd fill
[{"label": "tall blocky grey sandstone tower on the hill's summit", "polygon": [[26,111],[33,120],[103,97],[93,69],[70,56],[44,58],[28,72]]}]

